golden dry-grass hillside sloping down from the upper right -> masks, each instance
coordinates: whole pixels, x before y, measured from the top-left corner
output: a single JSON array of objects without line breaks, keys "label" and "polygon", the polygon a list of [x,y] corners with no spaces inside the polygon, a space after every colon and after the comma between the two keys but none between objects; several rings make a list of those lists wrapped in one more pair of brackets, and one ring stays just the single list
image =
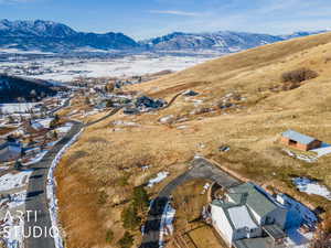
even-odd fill
[{"label": "golden dry-grass hillside sloping down from the upper right", "polygon": [[[290,181],[292,175],[305,175],[331,187],[331,155],[307,163],[288,157],[277,142],[291,128],[331,143],[330,66],[331,33],[327,33],[228,55],[130,86],[128,89],[166,99],[186,89],[200,95],[180,96],[169,108],[153,114],[118,114],[85,130],[57,171],[68,247],[116,247],[125,231],[120,213],[132,187],[159,171],[169,171],[171,176],[149,191],[153,196],[186,170],[196,153],[242,179],[331,211],[328,201],[297,192]],[[302,67],[318,77],[301,83],[281,80],[284,73]],[[173,116],[170,123],[159,122],[169,115]],[[118,119],[137,126],[114,125]],[[231,150],[220,152],[222,144]],[[142,170],[147,164],[150,169]],[[115,234],[111,241],[106,238],[109,230]],[[139,230],[131,233],[139,242]]]}]

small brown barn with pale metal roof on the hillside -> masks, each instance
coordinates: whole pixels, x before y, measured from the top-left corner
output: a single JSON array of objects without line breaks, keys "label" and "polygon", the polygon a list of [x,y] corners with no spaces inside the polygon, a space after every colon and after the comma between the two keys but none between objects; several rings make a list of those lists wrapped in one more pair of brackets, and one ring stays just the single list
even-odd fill
[{"label": "small brown barn with pale metal roof on the hillside", "polygon": [[280,141],[286,145],[290,145],[302,151],[309,151],[322,145],[322,141],[293,130],[282,132]]}]

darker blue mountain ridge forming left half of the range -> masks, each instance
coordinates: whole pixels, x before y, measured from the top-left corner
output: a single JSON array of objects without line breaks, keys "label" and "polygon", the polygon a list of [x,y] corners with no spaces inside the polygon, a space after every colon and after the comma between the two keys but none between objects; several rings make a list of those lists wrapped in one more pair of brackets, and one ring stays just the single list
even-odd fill
[{"label": "darker blue mountain ridge forming left half of the range", "polygon": [[81,47],[131,50],[139,44],[122,33],[84,33],[51,21],[0,21],[0,47],[23,51],[70,52]]}]

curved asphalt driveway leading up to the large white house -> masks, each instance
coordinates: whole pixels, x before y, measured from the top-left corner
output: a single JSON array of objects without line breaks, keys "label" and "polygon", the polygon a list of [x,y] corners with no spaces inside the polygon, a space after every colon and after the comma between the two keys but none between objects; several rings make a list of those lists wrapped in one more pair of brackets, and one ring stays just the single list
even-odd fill
[{"label": "curved asphalt driveway leading up to the large white house", "polygon": [[153,201],[145,225],[145,235],[140,248],[159,248],[160,223],[171,193],[184,182],[193,179],[207,179],[218,183],[223,187],[231,187],[239,183],[224,171],[215,168],[204,159],[195,159],[192,169],[170,182]]}]

